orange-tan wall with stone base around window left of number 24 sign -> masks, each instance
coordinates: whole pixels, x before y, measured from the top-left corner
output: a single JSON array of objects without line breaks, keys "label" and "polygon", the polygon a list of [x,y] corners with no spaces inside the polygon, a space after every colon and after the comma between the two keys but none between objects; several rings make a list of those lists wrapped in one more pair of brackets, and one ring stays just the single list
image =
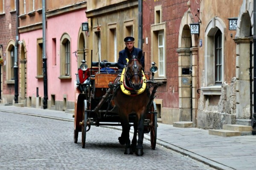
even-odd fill
[{"label": "orange-tan wall with stone base around window left of number 24 sign", "polygon": [[[221,129],[223,124],[236,123],[236,44],[233,38],[235,30],[229,30],[231,17],[238,17],[239,10],[244,0],[214,0],[201,1],[200,4],[200,35],[202,48],[199,48],[199,86],[211,90],[201,90],[198,101],[198,127],[205,129]],[[230,7],[232,6],[232,8]],[[218,16],[218,18],[216,17]],[[216,20],[215,20],[216,19]],[[216,21],[212,23],[213,21]],[[212,24],[212,27],[209,27]],[[209,36],[214,35],[216,28],[222,31],[223,36],[223,77],[221,86],[209,84],[212,81],[212,72],[209,74],[209,66],[212,64],[206,58],[212,58],[209,50],[214,44],[209,43]],[[206,34],[207,32],[207,34]],[[207,43],[208,42],[208,43]],[[207,61],[207,63],[205,63]]]}]

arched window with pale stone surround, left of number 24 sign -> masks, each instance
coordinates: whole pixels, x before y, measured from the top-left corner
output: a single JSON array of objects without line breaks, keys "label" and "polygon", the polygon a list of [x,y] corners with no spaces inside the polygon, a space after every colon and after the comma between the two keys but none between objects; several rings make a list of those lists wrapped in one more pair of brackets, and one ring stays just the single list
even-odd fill
[{"label": "arched window with pale stone surround, left of number 24 sign", "polygon": [[204,95],[221,95],[224,77],[225,23],[219,17],[209,21],[205,30],[204,62],[205,79],[201,90]]}]

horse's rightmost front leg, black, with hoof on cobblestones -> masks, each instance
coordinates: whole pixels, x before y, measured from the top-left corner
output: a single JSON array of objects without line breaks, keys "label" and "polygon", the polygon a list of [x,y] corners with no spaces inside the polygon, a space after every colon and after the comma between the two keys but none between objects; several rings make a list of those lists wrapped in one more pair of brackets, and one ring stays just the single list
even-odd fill
[{"label": "horse's rightmost front leg, black, with hoof on cobblestones", "polygon": [[142,115],[138,121],[138,145],[136,147],[136,155],[143,156],[143,138],[144,138],[144,115]]}]

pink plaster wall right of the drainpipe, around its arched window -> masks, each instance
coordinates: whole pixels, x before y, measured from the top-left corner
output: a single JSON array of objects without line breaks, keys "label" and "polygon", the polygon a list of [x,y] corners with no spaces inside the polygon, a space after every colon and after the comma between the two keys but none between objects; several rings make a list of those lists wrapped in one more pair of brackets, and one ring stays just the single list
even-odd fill
[{"label": "pink plaster wall right of the drainpipe, around its arched window", "polygon": [[[78,62],[74,52],[77,51],[78,33],[81,23],[86,21],[84,10],[58,17],[47,19],[47,74],[48,77],[48,98],[51,94],[55,95],[56,101],[62,101],[67,95],[67,101],[75,101],[75,87]],[[70,79],[59,79],[60,76],[60,46],[61,37],[66,33],[70,36]],[[52,38],[56,38],[56,65],[52,63]]]}]

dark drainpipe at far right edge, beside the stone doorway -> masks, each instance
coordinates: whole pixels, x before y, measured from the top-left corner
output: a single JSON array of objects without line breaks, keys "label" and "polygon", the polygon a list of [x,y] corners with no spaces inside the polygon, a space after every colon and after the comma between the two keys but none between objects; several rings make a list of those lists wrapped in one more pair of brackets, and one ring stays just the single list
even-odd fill
[{"label": "dark drainpipe at far right edge, beside the stone doorway", "polygon": [[252,134],[256,135],[256,0],[253,1],[253,118]]}]

